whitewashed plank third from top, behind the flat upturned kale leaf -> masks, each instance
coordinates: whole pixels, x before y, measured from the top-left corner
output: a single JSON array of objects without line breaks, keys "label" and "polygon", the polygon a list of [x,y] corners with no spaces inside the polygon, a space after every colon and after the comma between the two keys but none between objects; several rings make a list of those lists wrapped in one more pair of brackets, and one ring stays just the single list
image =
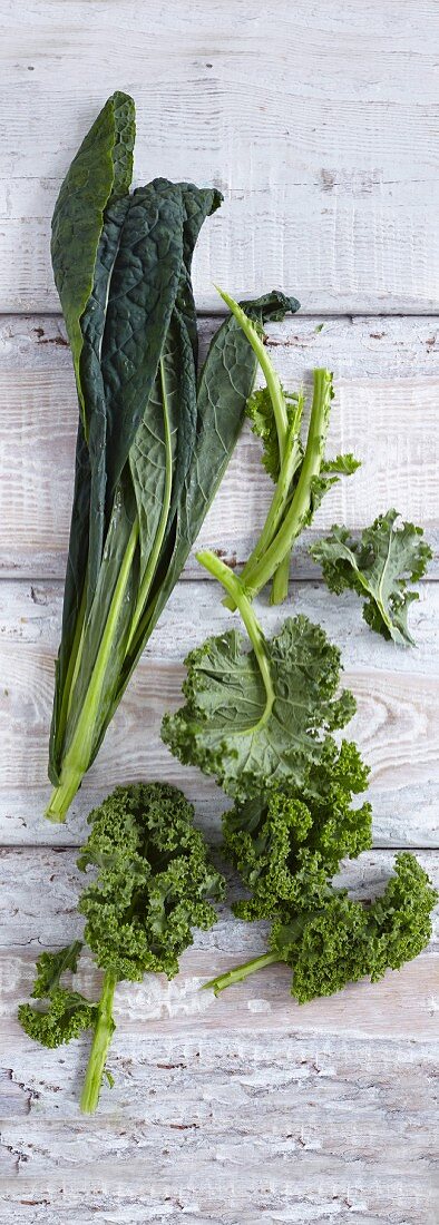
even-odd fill
[{"label": "whitewashed plank third from top, behind the flat upturned kale leaf", "polygon": [[[202,582],[175,588],[61,829],[42,820],[49,795],[45,772],[61,588],[4,581],[0,592],[0,842],[76,843],[90,809],[110,786],[132,778],[172,779],[196,800],[210,824],[217,824],[222,794],[170,757],[159,724],[164,710],[181,701],[184,655],[208,633],[234,624],[220,589]],[[372,767],[376,843],[438,845],[438,584],[422,584],[411,614],[417,649],[396,648],[373,635],[353,594],[336,599],[319,583],[294,584],[283,610],[262,603],[259,610],[267,633],[287,612],[302,612],[340,644],[343,682],[358,701],[348,735],[358,740]]]}]

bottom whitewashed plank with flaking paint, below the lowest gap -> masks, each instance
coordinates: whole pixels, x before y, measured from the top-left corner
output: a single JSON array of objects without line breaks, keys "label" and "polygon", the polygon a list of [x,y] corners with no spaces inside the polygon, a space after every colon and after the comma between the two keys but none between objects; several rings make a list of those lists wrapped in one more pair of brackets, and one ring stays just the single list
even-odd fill
[{"label": "bottom whitewashed plank with flaking paint, below the lowest gap", "polygon": [[[438,855],[419,859],[439,881]],[[356,873],[356,894],[370,895],[391,862],[386,851],[363,855],[345,883]],[[286,967],[215,1000],[199,990],[206,976],[265,947],[264,925],[238,924],[222,907],[216,927],[196,935],[175,980],[147,975],[118,987],[109,1056],[115,1088],[103,1087],[97,1116],[83,1120],[77,1095],[90,1039],[38,1049],[36,1058],[13,1019],[36,953],[80,931],[74,855],[2,851],[0,880],[5,1213],[17,1205],[18,1220],[39,1221],[44,1207],[54,1225],[61,1196],[65,1216],[82,1223],[82,1214],[108,1209],[118,1223],[174,1220],[175,1200],[194,1225],[251,1225],[255,1203],[259,1220],[302,1225],[307,1210],[305,1219],[324,1221],[335,1200],[330,1219],[337,1221],[343,1204],[351,1220],[358,1208],[358,1223],[429,1220],[437,944],[379,984],[364,981],[307,1006],[288,996]],[[77,984],[97,993],[90,960]]]}]

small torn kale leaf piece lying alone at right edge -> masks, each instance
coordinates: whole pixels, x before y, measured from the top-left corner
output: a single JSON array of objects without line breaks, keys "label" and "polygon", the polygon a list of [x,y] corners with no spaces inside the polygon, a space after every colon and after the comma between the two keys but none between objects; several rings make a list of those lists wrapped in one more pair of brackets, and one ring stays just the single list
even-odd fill
[{"label": "small torn kale leaf piece lying alone at right edge", "polygon": [[379,514],[359,540],[335,523],[331,534],[313,545],[310,552],[320,562],[331,592],[340,595],[351,588],[363,597],[363,617],[372,630],[400,646],[414,646],[407,615],[419,597],[407,590],[407,583],[422,578],[433,554],[421,540],[422,528],[413,523],[395,527],[397,519],[395,510]]}]

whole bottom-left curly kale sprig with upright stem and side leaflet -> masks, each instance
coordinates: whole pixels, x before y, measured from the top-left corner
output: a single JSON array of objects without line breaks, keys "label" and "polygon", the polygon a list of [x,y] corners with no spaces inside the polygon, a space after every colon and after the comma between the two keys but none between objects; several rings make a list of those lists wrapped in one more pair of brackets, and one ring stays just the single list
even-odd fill
[{"label": "whole bottom-left curly kale sprig with upright stem and side leaflet", "polygon": [[147,971],[168,979],[180,954],[193,943],[193,927],[216,919],[208,898],[222,898],[224,882],[207,859],[202,834],[193,824],[194,809],[181,791],[164,783],[118,786],[90,813],[90,837],[78,867],[96,870],[81,894],[85,941],[104,970],[99,1003],[60,986],[60,976],[77,969],[81,943],[37,962],[33,996],[45,1011],[21,1005],[20,1022],[36,1041],[59,1046],[93,1028],[93,1042],[81,1109],[96,1110],[114,1031],[113,997],[121,979],[140,981]]}]

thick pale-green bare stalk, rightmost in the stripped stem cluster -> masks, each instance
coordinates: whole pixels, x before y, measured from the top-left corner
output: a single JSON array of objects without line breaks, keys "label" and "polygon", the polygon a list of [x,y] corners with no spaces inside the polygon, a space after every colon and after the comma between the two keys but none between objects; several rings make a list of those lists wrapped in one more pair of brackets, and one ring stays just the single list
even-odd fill
[{"label": "thick pale-green bare stalk, rightmost in the stripped stem cluster", "polygon": [[300,475],[292,503],[278,532],[262,557],[260,557],[245,577],[245,590],[249,599],[253,599],[270,582],[280,562],[289,554],[309,514],[313,478],[319,477],[324,457],[331,394],[332,376],[330,371],[314,370],[311,415]]}]

